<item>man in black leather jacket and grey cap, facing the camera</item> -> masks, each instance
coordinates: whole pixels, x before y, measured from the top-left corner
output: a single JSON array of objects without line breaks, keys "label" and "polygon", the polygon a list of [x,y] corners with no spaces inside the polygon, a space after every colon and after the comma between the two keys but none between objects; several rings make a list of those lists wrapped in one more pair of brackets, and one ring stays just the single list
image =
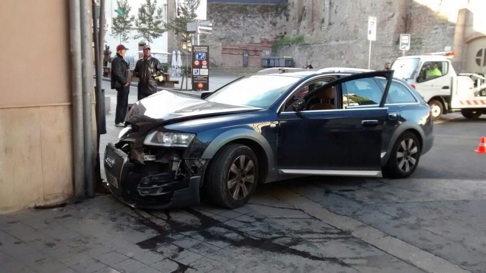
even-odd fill
[{"label": "man in black leather jacket and grey cap, facing the camera", "polygon": [[157,92],[157,80],[165,71],[160,62],[151,56],[150,46],[143,47],[143,58],[137,61],[133,75],[139,77],[138,98],[146,98]]}]

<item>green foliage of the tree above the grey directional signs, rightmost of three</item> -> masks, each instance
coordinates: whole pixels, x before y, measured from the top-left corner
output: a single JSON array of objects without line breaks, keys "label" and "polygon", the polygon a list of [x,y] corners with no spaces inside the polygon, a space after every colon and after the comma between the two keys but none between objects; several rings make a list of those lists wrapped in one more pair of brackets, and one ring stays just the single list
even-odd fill
[{"label": "green foliage of the tree above the grey directional signs, rightmost of three", "polygon": [[167,29],[173,30],[175,34],[182,36],[189,36],[187,32],[187,23],[194,21],[196,18],[196,9],[201,0],[177,0],[178,1],[178,17],[165,24]]}]

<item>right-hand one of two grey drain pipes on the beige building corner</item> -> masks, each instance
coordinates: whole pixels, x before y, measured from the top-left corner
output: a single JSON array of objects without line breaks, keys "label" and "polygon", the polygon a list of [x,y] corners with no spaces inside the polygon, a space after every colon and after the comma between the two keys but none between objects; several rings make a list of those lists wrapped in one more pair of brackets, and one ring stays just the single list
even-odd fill
[{"label": "right-hand one of two grey drain pipes on the beige building corner", "polygon": [[91,1],[80,1],[81,5],[81,51],[83,71],[83,128],[85,144],[85,181],[87,197],[94,197],[93,118],[91,91],[93,87],[93,33],[91,25]]}]

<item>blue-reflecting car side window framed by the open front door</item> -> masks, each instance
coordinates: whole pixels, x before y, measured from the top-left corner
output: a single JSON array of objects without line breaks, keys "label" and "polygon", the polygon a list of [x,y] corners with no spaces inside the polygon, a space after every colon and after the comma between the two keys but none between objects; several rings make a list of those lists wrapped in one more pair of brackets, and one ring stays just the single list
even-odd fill
[{"label": "blue-reflecting car side window framed by the open front door", "polygon": [[343,108],[380,104],[383,91],[373,78],[344,82]]}]

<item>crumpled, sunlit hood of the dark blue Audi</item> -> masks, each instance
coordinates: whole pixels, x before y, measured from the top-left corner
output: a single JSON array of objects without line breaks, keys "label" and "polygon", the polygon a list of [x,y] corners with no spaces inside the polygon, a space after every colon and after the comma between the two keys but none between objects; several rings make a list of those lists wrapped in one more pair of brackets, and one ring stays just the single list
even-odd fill
[{"label": "crumpled, sunlit hood of the dark blue Audi", "polygon": [[153,127],[174,119],[188,119],[255,110],[260,110],[260,108],[208,102],[162,90],[134,103],[126,121],[139,127]]}]

